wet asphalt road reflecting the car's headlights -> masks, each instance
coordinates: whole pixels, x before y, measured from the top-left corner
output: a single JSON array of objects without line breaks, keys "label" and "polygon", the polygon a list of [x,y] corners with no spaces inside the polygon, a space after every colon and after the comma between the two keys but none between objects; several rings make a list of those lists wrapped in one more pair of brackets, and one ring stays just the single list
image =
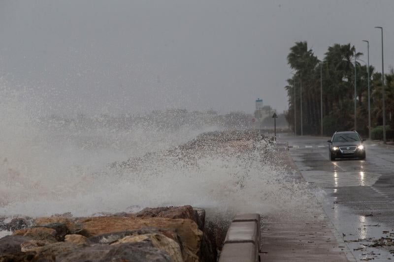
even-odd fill
[{"label": "wet asphalt road reflecting the car's headlights", "polygon": [[[326,194],[321,204],[358,261],[394,260],[394,146],[366,141],[366,159],[328,160],[328,138],[280,135],[304,179]],[[374,239],[388,245],[368,247]],[[359,239],[364,239],[360,241]],[[393,251],[394,252],[394,251]]]}]

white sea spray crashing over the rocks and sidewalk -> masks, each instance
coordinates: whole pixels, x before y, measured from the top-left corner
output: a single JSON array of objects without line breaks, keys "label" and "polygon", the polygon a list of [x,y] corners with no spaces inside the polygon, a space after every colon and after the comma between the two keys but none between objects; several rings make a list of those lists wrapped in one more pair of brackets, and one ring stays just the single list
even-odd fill
[{"label": "white sea spray crashing over the rocks and sidewalk", "polygon": [[221,220],[313,212],[312,202],[302,205],[312,199],[308,184],[288,178],[275,145],[224,131],[223,115],[51,116],[22,100],[1,92],[0,216],[183,204]]}]

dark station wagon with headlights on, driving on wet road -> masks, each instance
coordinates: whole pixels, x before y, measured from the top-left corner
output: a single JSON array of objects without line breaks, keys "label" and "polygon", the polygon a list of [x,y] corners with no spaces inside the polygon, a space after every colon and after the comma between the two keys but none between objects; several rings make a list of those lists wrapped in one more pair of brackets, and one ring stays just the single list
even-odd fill
[{"label": "dark station wagon with headlights on, driving on wet road", "polygon": [[328,140],[328,158],[361,158],[365,159],[364,140],[355,131],[335,132]]}]

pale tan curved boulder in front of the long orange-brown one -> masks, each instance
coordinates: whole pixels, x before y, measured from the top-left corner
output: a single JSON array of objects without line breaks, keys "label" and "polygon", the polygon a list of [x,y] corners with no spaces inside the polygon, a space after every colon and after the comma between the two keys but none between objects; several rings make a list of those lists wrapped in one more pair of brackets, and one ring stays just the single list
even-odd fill
[{"label": "pale tan curved boulder in front of the long orange-brown one", "polygon": [[154,247],[166,252],[171,257],[173,262],[183,262],[182,251],[179,244],[163,234],[151,233],[151,234],[129,235],[129,236],[125,236],[122,239],[119,239],[115,243],[112,243],[112,245],[141,242],[147,240],[152,242],[152,245]]}]

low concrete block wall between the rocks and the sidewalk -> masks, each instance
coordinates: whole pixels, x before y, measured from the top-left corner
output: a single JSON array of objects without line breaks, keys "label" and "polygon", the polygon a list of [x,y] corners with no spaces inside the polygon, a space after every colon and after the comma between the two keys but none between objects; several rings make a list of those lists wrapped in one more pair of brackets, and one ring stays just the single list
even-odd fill
[{"label": "low concrete block wall between the rocks and the sidewalk", "polygon": [[258,262],[260,246],[260,215],[238,214],[227,232],[219,262]]}]

